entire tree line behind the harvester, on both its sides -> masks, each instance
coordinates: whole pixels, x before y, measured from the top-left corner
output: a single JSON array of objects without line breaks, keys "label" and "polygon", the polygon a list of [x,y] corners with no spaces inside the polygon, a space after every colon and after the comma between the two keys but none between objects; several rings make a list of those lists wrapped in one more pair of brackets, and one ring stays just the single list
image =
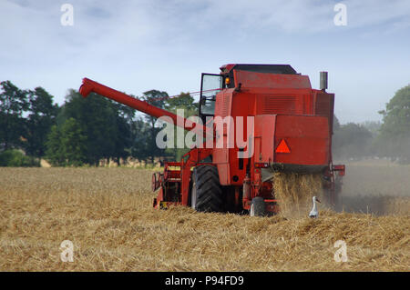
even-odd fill
[{"label": "entire tree line behind the harvester, on both its sides", "polygon": [[[134,96],[137,97],[137,96]],[[169,98],[150,90],[138,99],[176,112],[198,115],[198,103],[189,93]],[[333,120],[333,159],[388,157],[410,164],[410,85],[399,89],[385,109],[382,122],[348,123]],[[101,160],[134,157],[154,163],[180,160],[188,148],[160,149],[156,118],[137,115],[128,106],[95,93],[87,100],[69,90],[64,105],[41,86],[22,90],[10,81],[0,83],[0,166],[98,165]]]}]

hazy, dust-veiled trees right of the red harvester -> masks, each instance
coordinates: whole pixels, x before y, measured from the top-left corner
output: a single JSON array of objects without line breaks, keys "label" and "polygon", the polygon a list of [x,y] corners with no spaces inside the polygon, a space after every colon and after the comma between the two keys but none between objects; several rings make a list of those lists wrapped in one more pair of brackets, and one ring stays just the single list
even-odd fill
[{"label": "hazy, dust-veiled trees right of the red harvester", "polygon": [[410,85],[399,89],[378,113],[383,116],[382,122],[340,125],[335,117],[333,157],[385,157],[410,164]]}]

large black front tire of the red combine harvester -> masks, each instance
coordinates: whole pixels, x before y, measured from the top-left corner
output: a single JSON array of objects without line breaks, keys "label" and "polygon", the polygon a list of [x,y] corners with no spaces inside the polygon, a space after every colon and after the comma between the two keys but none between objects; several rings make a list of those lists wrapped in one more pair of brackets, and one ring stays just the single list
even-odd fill
[{"label": "large black front tire of the red combine harvester", "polygon": [[222,187],[216,166],[200,165],[194,168],[190,205],[198,212],[221,212],[223,210]]}]

